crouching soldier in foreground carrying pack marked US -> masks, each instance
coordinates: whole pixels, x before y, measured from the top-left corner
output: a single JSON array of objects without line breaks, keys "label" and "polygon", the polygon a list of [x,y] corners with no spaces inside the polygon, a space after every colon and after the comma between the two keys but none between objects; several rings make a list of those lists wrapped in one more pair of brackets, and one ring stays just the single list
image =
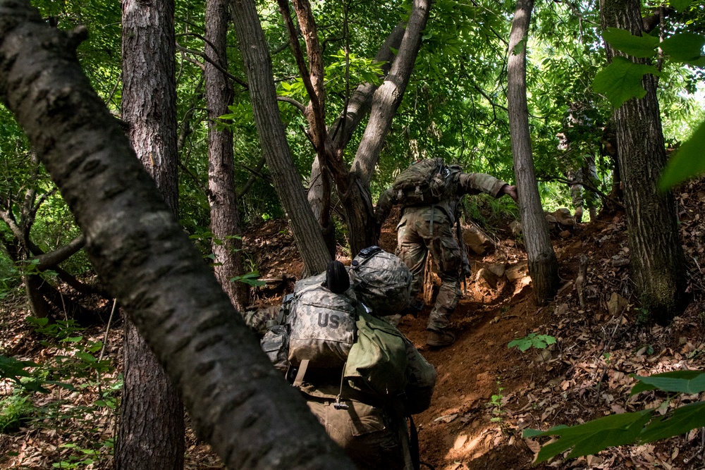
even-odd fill
[{"label": "crouching soldier in foreground carrying pack marked US", "polygon": [[[375,317],[407,307],[411,279],[405,264],[379,247],[362,250],[350,274],[331,261],[326,273],[300,280],[283,306],[288,340],[277,340],[277,326],[262,339],[275,365],[282,355],[272,346],[286,350],[288,379],[359,469],[418,468],[406,418],[429,407],[436,371],[399,330]],[[346,309],[352,345],[350,322],[341,319]]]}]

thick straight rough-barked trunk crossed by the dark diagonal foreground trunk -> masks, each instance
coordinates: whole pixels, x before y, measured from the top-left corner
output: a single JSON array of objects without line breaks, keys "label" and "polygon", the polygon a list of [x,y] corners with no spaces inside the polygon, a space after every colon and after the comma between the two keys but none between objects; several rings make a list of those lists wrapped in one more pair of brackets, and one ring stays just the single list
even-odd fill
[{"label": "thick straight rough-barked trunk crossed by the dark diagonal foreground trunk", "polygon": [[[128,124],[137,158],[176,214],[173,0],[125,0],[122,6],[122,119]],[[118,469],[183,469],[183,404],[178,390],[129,320],[125,321],[123,354]]]}]

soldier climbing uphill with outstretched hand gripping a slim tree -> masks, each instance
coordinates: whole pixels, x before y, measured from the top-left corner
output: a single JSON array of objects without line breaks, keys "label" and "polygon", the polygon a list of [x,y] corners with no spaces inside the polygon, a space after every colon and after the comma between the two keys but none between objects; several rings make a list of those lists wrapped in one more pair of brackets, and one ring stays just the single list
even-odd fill
[{"label": "soldier climbing uphill with outstretched hand gripping a slim tree", "polygon": [[[421,162],[427,161],[419,161],[409,169]],[[444,185],[442,190],[436,190],[440,196],[429,197],[424,196],[422,184],[417,185],[412,194],[395,189],[403,187],[402,184],[398,184],[398,181],[403,178],[405,172],[395,180],[392,188],[379,197],[375,209],[376,230],[379,234],[382,223],[389,215],[392,206],[401,204],[401,216],[397,224],[397,254],[414,276],[411,287],[412,299],[416,299],[422,291],[424,268],[429,252],[433,256],[434,266],[438,270],[436,273],[441,278],[441,289],[429,315],[427,323],[429,335],[426,344],[431,347],[445,347],[455,341],[455,335],[448,330],[448,319],[460,300],[460,276],[468,274],[467,271],[461,273],[464,270],[462,265],[464,253],[453,235],[455,211],[460,203],[460,197],[464,194],[484,192],[493,197],[508,194],[516,201],[517,188],[484,173],[463,173],[459,166],[453,165],[439,172]],[[425,202],[418,200],[410,202],[408,196],[413,198],[415,194],[419,194],[417,199],[424,199]],[[434,199],[438,200],[433,202]]]}]

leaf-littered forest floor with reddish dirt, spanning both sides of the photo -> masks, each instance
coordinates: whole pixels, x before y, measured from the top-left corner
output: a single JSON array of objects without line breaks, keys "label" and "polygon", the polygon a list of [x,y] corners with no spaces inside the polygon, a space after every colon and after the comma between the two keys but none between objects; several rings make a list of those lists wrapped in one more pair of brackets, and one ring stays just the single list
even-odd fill
[{"label": "leaf-littered forest floor with reddish dirt, spanning both sides of the photo", "polygon": [[[548,305],[539,307],[534,302],[526,253],[508,224],[501,223],[494,232],[494,249],[484,256],[472,256],[473,273],[485,268],[482,272],[493,271],[496,276],[473,275],[467,280],[467,292],[451,318],[458,333],[453,345],[440,350],[425,345],[430,302],[418,319],[403,319],[400,329],[439,374],[431,407],[415,416],[421,460],[426,464],[422,469],[705,468],[705,428],[656,443],[615,447],[578,459],[553,459],[534,467],[532,460],[547,439],[521,437],[525,428],[546,430],[662,404],[661,411],[666,412],[666,407],[704,398],[680,396],[669,404],[660,392],[629,395],[636,383],[632,373],[645,376],[705,367],[705,276],[701,266],[705,259],[705,180],[682,187],[677,201],[693,300],[669,326],[646,323],[642,311],[630,301],[624,214],[601,216],[553,234],[561,287]],[[393,222],[392,217],[388,219],[380,240],[390,252],[396,248]],[[249,230],[244,240],[245,252],[267,280],[266,287],[253,290],[253,304],[276,304],[301,276],[302,263],[293,237],[286,223],[269,221]],[[575,281],[582,255],[588,264],[581,307]],[[340,259],[350,261],[342,252]],[[429,291],[427,297],[431,294]],[[36,362],[58,354],[56,348],[37,342],[37,334],[24,320],[27,313],[20,299],[4,299],[0,314],[2,354]],[[83,335],[99,340],[103,330],[95,327]],[[525,352],[508,347],[509,342],[529,333],[550,335],[556,343]],[[105,354],[116,366],[116,375],[121,365],[119,321],[108,338]],[[62,468],[112,468],[105,445],[90,455],[92,463],[87,463],[82,450],[90,448],[91,440],[109,443],[114,435],[116,420],[111,407],[88,406],[101,398],[99,393],[108,396],[105,388],[97,388],[87,379],[75,385],[78,390],[64,391],[63,397],[52,389],[49,395],[35,394],[34,401],[42,405],[60,398],[63,409],[82,407],[82,417],[62,414],[61,423],[52,423],[44,416],[42,421],[27,421],[0,434],[0,468],[46,469],[52,464],[57,467],[57,462],[62,462]],[[8,393],[8,384],[0,383],[0,395],[4,393]],[[87,419],[90,426],[82,428]],[[206,444],[191,432],[187,438],[186,468],[222,468]],[[82,442],[85,444],[76,447],[65,445]]]}]

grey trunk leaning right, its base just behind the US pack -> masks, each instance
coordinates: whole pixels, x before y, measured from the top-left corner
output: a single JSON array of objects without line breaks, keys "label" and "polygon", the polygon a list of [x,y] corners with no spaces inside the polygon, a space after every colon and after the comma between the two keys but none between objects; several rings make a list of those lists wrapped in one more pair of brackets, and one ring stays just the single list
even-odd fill
[{"label": "grey trunk leaning right, its base just behind the US pack", "polygon": [[309,206],[301,178],[291,158],[276,103],[271,59],[253,0],[232,0],[233,22],[245,62],[250,100],[255,113],[262,153],[271,171],[281,205],[287,212],[291,232],[301,255],[305,273],[326,270],[331,255]]}]

